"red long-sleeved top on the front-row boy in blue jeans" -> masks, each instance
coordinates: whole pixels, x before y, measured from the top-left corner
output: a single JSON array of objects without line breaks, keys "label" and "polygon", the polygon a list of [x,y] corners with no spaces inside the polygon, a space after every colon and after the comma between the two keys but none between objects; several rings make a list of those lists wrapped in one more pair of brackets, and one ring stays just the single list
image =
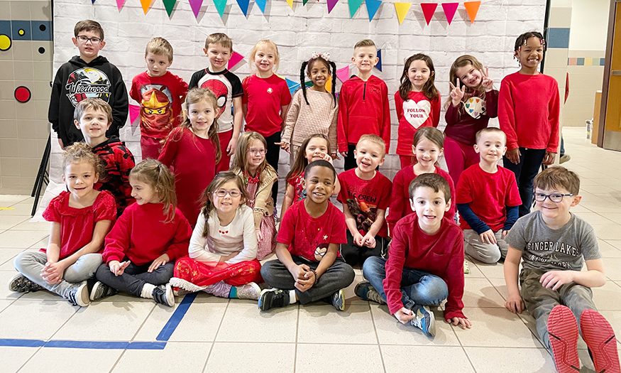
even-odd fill
[{"label": "red long-sleeved top on the front-row boy in blue jeans", "polygon": [[453,220],[442,219],[440,230],[429,235],[420,229],[416,214],[397,223],[386,261],[384,292],[390,314],[403,307],[401,278],[403,267],[420,269],[440,277],[449,288],[444,318],[464,318],[463,232]]}]

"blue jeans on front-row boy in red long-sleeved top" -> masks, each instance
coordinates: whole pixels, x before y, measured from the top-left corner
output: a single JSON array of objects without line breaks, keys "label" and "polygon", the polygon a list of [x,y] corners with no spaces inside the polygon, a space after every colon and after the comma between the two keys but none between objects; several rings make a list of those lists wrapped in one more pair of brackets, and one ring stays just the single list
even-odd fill
[{"label": "blue jeans on front-row boy in red long-sleeved top", "polygon": [[[362,266],[362,274],[386,301],[383,281],[386,278],[386,259],[370,256]],[[403,267],[401,277],[401,301],[412,309],[414,305],[439,306],[449,296],[449,288],[438,276],[419,269]]]}]

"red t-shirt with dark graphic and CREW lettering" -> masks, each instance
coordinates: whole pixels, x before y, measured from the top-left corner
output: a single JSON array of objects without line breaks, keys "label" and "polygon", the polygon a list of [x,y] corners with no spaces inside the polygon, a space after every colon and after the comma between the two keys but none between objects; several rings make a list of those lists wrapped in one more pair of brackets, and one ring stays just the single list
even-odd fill
[{"label": "red t-shirt with dark graphic and CREW lettering", "polygon": [[[356,218],[358,232],[364,236],[375,222],[378,210],[386,210],[390,205],[392,183],[378,172],[371,180],[358,178],[356,168],[341,172],[339,183],[341,183],[341,192],[336,199],[347,204],[349,212]],[[377,235],[388,237],[388,226],[385,220]]]}]

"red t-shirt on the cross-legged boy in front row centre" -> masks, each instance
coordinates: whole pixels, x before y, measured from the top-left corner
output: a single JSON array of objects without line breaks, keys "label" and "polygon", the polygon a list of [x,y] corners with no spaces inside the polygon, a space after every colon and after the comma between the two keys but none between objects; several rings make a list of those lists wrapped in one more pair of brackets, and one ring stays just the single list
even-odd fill
[{"label": "red t-shirt on the cross-legged boy in front row centre", "polygon": [[[329,244],[346,244],[345,215],[328,203],[320,217],[308,215],[304,200],[295,202],[282,217],[277,242],[289,245],[289,252],[309,261],[321,261]],[[341,253],[337,254],[341,256]]]}]

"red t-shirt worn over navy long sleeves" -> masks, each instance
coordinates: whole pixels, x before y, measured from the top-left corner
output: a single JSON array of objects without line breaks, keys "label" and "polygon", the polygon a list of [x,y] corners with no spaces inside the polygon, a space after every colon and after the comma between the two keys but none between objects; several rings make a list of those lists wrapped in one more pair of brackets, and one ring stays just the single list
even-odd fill
[{"label": "red t-shirt worn over navy long sleeves", "polygon": [[[507,220],[507,206],[520,206],[515,173],[498,166],[498,172],[487,173],[478,164],[466,168],[457,183],[456,203],[468,203],[474,215],[494,232],[502,229]],[[471,203],[477,201],[476,203]],[[472,229],[466,220],[461,229]]]}]

